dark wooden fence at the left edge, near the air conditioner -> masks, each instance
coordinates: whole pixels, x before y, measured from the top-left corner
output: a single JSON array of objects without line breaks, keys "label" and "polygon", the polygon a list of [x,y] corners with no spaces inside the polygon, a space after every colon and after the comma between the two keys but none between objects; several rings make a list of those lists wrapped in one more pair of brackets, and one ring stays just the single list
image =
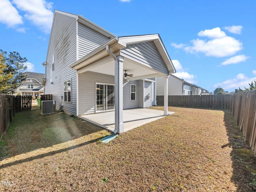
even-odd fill
[{"label": "dark wooden fence at the left edge, near the air conditioner", "polygon": [[0,140],[6,134],[6,130],[12,118],[18,112],[31,110],[32,96],[10,96],[0,94]]}]

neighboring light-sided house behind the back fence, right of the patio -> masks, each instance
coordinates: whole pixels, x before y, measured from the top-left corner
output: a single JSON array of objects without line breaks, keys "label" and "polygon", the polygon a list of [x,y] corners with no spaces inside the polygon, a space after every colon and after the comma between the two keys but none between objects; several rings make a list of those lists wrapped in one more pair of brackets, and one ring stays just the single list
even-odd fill
[{"label": "neighboring light-sided house behind the back fence, right of the patio", "polygon": [[[156,78],[156,95],[163,95],[164,78]],[[184,79],[178,78],[170,74],[168,78],[168,95],[202,95],[209,92],[195,84],[189,83]]]}]

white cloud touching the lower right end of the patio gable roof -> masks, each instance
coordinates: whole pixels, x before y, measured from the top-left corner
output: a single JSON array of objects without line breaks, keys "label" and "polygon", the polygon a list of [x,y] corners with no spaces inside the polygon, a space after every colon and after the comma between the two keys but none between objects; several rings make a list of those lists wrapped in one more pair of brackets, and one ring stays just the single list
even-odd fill
[{"label": "white cloud touching the lower right end of the patio gable roof", "polygon": [[189,74],[188,72],[185,72],[178,60],[172,60],[172,64],[174,65],[177,71],[176,73],[173,74],[174,76],[184,79],[185,81],[190,83],[196,83],[196,80],[194,80],[196,76],[194,76],[193,74]]}]

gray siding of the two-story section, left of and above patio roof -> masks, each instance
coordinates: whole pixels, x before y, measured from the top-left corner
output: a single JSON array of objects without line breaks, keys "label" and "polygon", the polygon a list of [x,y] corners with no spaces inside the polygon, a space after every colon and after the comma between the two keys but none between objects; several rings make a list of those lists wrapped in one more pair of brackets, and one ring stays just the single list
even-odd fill
[{"label": "gray siding of the two-story section, left of and above patio roof", "polygon": [[[78,34],[76,33],[77,30]],[[78,43],[76,38],[78,38]],[[55,13],[46,60],[45,94],[53,94],[56,108],[60,108],[61,103],[64,103],[63,110],[65,112],[76,114],[77,74],[76,70],[72,70],[69,66],[107,40],[106,36],[78,23],[76,18]],[[52,70],[53,56],[54,70]],[[64,102],[64,81],[70,79],[72,86],[71,103]],[[51,84],[51,82],[53,83]]]}]

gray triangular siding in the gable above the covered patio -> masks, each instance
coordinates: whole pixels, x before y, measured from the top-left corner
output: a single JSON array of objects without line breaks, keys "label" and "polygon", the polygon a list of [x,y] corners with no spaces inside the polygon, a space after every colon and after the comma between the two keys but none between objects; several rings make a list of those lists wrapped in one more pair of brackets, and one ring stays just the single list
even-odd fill
[{"label": "gray triangular siding in the gable above the covered patio", "polygon": [[164,74],[169,74],[164,60],[153,42],[128,45],[121,50],[121,54],[126,58],[142,63],[152,69],[158,70]]}]

